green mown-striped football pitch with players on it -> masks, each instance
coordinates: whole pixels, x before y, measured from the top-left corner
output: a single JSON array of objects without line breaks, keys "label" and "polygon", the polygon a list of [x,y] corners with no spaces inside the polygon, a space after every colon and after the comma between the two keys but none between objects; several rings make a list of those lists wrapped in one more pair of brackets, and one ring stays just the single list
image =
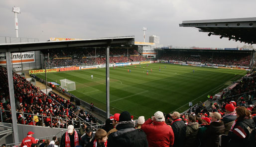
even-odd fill
[{"label": "green mown-striped football pitch with players on it", "polygon": [[[110,113],[126,110],[135,118],[142,115],[148,118],[158,110],[183,112],[189,108],[189,101],[193,104],[205,101],[208,94],[217,94],[246,73],[167,63],[110,67]],[[44,74],[36,76],[45,78]],[[106,111],[105,68],[47,73],[48,82],[60,83],[61,79],[76,83],[76,91],[71,94]]]}]

